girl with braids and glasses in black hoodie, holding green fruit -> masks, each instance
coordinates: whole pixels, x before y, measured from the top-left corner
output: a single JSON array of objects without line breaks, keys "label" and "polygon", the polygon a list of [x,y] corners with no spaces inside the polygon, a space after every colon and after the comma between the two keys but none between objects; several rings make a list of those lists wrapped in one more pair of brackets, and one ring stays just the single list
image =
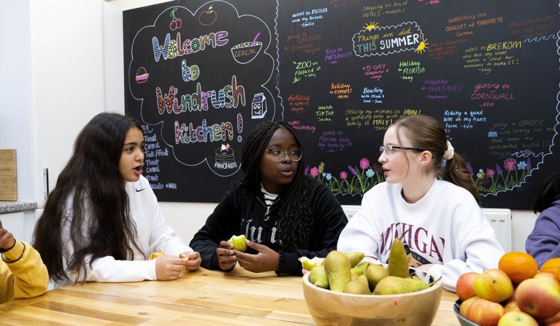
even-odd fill
[{"label": "girl with braids and glasses in black hoodie, holding green fruit", "polygon": [[[300,257],[336,249],[346,215],[328,187],[304,175],[300,137],[285,122],[265,121],[249,132],[239,183],[226,193],[190,247],[201,266],[231,271],[301,275]],[[226,241],[244,234],[248,248]]]}]

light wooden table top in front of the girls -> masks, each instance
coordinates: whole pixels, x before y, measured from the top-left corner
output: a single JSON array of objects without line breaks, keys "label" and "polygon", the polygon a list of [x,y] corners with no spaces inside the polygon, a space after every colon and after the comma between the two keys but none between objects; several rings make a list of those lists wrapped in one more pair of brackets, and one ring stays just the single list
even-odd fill
[{"label": "light wooden table top in front of the girls", "polygon": [[[444,290],[433,325],[459,325]],[[0,325],[314,325],[301,277],[200,268],[175,281],[65,286],[0,305]]]}]

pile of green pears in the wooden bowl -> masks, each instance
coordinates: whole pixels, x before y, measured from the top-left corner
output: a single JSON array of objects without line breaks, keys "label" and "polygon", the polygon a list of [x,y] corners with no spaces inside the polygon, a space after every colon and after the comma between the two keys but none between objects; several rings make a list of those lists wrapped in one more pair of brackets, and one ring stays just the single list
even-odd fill
[{"label": "pile of green pears in the wooden bowl", "polygon": [[427,284],[418,276],[409,275],[408,257],[399,238],[391,244],[387,269],[378,264],[361,262],[364,257],[361,252],[332,251],[322,262],[302,261],[302,265],[311,268],[309,281],[312,284],[336,292],[403,294],[427,289],[434,283]]}]

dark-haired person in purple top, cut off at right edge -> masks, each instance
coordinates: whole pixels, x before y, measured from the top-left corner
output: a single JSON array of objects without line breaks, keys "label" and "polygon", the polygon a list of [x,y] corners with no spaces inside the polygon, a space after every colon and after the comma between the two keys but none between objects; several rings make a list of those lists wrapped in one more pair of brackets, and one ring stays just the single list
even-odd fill
[{"label": "dark-haired person in purple top, cut off at right edge", "polygon": [[540,214],[525,241],[525,251],[535,258],[540,268],[548,259],[560,257],[560,172],[544,182],[533,210]]}]

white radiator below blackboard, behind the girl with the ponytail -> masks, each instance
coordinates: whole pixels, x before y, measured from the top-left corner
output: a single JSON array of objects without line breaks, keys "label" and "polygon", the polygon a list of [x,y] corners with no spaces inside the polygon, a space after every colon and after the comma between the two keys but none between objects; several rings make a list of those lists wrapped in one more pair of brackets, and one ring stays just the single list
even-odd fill
[{"label": "white radiator below blackboard, behind the girl with the ponytail", "polygon": [[[342,205],[344,214],[349,219],[354,216],[359,210],[360,206],[357,205]],[[482,209],[484,215],[496,231],[498,241],[502,245],[505,252],[511,252],[511,210],[498,209],[498,208],[485,208]]]}]

